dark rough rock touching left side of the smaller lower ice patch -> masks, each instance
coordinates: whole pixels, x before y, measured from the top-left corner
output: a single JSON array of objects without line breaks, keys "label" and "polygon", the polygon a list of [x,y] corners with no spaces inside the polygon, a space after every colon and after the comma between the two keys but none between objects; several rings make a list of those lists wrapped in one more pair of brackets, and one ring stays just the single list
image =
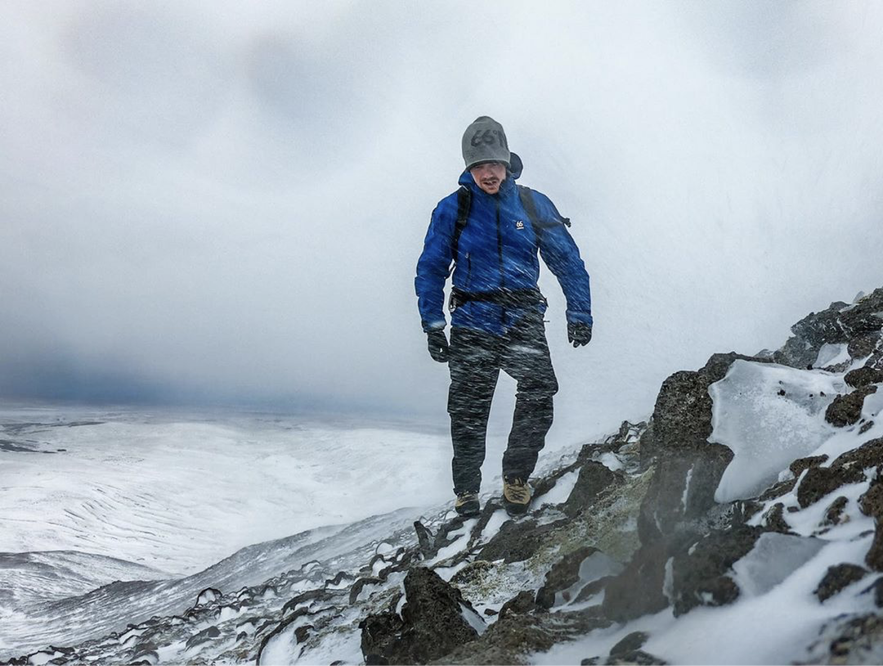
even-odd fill
[{"label": "dark rough rock touching left side of the smaller lower ice patch", "polygon": [[739,588],[730,578],[733,564],[747,555],[763,529],[741,525],[714,532],[674,558],[672,596],[675,616],[697,606],[735,601]]}]

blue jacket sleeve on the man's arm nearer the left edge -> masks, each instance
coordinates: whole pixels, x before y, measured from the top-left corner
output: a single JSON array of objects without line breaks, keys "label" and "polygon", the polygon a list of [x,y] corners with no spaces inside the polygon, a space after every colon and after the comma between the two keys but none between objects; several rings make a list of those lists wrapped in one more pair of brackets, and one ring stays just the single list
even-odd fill
[{"label": "blue jacket sleeve on the man's arm nearer the left edge", "polygon": [[417,291],[417,308],[426,332],[444,328],[445,282],[451,266],[451,236],[454,233],[456,213],[443,199],[429,222],[429,230],[423,241],[423,253],[417,261],[417,277],[414,286]]}]

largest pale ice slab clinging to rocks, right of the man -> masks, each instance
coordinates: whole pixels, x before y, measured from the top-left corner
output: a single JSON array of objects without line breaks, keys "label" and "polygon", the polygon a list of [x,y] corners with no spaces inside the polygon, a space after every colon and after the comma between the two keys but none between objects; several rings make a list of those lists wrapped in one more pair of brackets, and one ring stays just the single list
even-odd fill
[{"label": "largest pale ice slab clinging to rocks, right of the man", "polygon": [[754,497],[830,437],[824,412],[846,385],[823,371],[738,360],[708,390],[714,402],[708,440],[734,454],[714,498],[731,502]]}]

